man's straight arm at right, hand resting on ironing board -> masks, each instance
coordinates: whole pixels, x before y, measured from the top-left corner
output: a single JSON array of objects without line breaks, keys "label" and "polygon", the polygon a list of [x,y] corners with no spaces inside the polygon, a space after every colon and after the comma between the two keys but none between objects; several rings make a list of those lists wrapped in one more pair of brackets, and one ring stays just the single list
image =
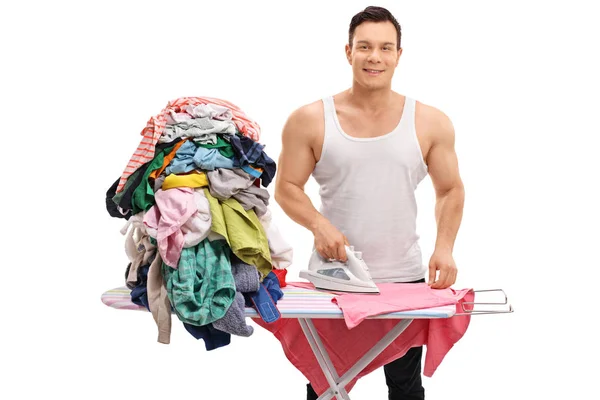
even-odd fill
[{"label": "man's straight arm at right, hand resting on ironing board", "polygon": [[[451,121],[435,109],[431,111],[430,121],[432,145],[427,164],[436,194],[437,239],[429,261],[429,284],[434,289],[444,289],[456,282],[457,269],[452,251],[462,220],[465,189],[454,150],[455,134]],[[436,271],[440,271],[437,280]]]}]

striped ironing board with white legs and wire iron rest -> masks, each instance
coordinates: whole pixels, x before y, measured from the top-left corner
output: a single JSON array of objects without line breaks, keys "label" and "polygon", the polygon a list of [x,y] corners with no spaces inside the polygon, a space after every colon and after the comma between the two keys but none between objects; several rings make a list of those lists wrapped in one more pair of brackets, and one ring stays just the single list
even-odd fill
[{"label": "striped ironing board with white legs and wire iron rest", "polygon": [[[476,315],[476,314],[497,314],[513,312],[512,305],[508,304],[506,294],[502,289],[475,290],[475,292],[502,292],[504,302],[495,303],[464,303],[464,304],[490,304],[490,305],[508,305],[508,310],[487,310],[475,311],[466,309],[463,304],[464,313],[456,313],[456,305],[451,304],[441,307],[432,307],[422,310],[411,310],[382,314],[369,319],[397,319],[398,323],[391,329],[379,342],[375,344],[363,357],[354,364],[345,374],[339,376],[321,338],[313,324],[313,319],[343,319],[343,313],[340,308],[331,300],[334,293],[323,292],[315,289],[294,286],[288,283],[281,288],[283,297],[277,302],[277,308],[281,313],[281,318],[297,318],[308,343],[317,358],[319,366],[329,383],[330,388],[325,391],[319,400],[350,399],[345,386],[352,381],[364,368],[366,368],[381,352],[383,352],[400,334],[410,325],[414,319],[433,319],[450,318],[454,315]],[[130,290],[125,287],[111,289],[102,294],[102,302],[109,307],[121,310],[140,310],[146,311],[145,307],[138,306],[131,302]],[[245,309],[246,317],[260,318],[253,308]]]}]

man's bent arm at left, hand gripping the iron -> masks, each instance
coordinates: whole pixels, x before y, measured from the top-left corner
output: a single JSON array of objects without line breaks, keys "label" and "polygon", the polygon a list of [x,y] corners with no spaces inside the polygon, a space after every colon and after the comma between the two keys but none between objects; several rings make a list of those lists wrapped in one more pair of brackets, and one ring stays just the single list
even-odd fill
[{"label": "man's bent arm at left, hand gripping the iron", "polygon": [[316,250],[326,258],[346,261],[348,241],[319,213],[304,192],[316,165],[313,143],[323,120],[322,107],[313,103],[294,111],[283,128],[282,146],[275,179],[275,201],[296,223],[315,237]]}]

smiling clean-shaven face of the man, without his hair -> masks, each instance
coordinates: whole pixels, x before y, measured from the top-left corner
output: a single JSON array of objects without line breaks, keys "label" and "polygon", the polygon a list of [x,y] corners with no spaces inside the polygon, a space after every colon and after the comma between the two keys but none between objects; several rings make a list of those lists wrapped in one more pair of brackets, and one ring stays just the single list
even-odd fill
[{"label": "smiling clean-shaven face of the man, without his hair", "polygon": [[389,22],[363,22],[356,27],[352,48],[346,57],[352,65],[354,80],[367,89],[390,87],[402,49],[397,48],[397,33]]}]

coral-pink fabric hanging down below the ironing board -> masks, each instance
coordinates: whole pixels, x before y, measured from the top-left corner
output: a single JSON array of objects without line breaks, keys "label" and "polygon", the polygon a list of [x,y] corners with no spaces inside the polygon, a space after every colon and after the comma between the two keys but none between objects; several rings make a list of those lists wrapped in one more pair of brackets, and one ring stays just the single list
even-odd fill
[{"label": "coral-pink fabric hanging down below the ironing board", "polygon": [[[288,283],[288,285],[302,286],[296,282]],[[462,312],[462,302],[471,302],[475,298],[472,290],[461,290],[458,293],[462,297],[453,300],[453,303],[456,303],[457,313]],[[339,296],[337,299],[338,304],[341,297],[343,296]],[[354,311],[350,311],[345,301],[342,303],[346,304],[346,313],[354,313]],[[355,302],[354,304],[361,303]],[[370,306],[367,305],[368,307]],[[364,315],[368,311],[359,310],[358,312]],[[433,376],[446,354],[465,334],[470,320],[469,315],[440,319],[414,319],[394,342],[350,381],[346,390],[350,391],[360,377],[402,357],[411,347],[422,345],[426,346],[423,374],[428,377]],[[281,342],[288,360],[308,379],[317,394],[321,395],[329,389],[327,379],[302,332],[298,319],[280,318],[271,324],[265,323],[260,318],[254,318],[254,321],[275,335]],[[346,322],[339,319],[315,318],[312,321],[339,376],[350,369],[399,322],[395,319],[366,319],[349,329]]]}]

